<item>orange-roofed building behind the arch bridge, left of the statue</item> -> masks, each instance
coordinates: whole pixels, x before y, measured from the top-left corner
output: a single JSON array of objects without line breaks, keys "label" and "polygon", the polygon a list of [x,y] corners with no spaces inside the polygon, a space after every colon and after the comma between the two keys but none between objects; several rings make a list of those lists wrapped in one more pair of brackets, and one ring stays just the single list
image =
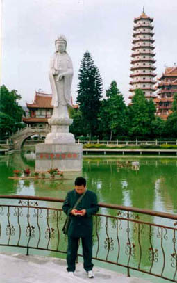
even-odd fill
[{"label": "orange-roofed building behind the arch bridge, left of the statue", "polygon": [[51,106],[52,95],[43,92],[35,92],[35,99],[32,104],[26,103],[28,115],[23,118],[23,122],[31,126],[44,126],[51,118],[53,106]]}]

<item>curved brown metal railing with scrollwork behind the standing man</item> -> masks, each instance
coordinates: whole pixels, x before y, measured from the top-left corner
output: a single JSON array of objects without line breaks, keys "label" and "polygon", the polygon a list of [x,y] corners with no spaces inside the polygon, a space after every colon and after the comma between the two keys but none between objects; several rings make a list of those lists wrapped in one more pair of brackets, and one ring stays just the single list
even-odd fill
[{"label": "curved brown metal railing with scrollwork behind the standing man", "polygon": [[[0,245],[66,254],[61,199],[0,195]],[[177,216],[99,203],[93,259],[177,282]],[[82,256],[81,248],[78,256]]]}]

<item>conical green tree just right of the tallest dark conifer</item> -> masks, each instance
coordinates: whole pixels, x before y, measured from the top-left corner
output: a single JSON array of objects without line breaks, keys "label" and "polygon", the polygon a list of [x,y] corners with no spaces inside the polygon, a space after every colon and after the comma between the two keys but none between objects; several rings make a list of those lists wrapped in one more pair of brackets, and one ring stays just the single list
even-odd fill
[{"label": "conical green tree just right of the tallest dark conifer", "polygon": [[104,138],[109,135],[112,140],[112,136],[124,136],[126,133],[127,108],[116,81],[110,83],[110,88],[106,90],[106,97],[107,99],[103,99],[99,114],[100,131]]}]

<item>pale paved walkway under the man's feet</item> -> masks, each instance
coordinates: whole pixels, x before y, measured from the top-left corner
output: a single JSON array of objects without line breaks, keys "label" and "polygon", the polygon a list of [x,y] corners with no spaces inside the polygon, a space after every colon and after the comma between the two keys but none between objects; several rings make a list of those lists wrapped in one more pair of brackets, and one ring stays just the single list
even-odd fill
[{"label": "pale paved walkway under the man's feet", "polygon": [[96,267],[95,277],[89,279],[83,264],[77,264],[76,275],[69,276],[63,259],[24,254],[0,254],[0,270],[1,283],[151,283]]}]

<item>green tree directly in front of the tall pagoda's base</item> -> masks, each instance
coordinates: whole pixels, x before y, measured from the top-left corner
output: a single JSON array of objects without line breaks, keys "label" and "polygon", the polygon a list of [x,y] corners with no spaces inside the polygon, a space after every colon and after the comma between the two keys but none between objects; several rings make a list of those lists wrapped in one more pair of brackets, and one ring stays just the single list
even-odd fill
[{"label": "green tree directly in front of the tall pagoda's base", "polygon": [[155,104],[147,100],[144,92],[135,90],[132,104],[128,106],[128,133],[130,136],[151,136],[151,123],[155,120]]}]

